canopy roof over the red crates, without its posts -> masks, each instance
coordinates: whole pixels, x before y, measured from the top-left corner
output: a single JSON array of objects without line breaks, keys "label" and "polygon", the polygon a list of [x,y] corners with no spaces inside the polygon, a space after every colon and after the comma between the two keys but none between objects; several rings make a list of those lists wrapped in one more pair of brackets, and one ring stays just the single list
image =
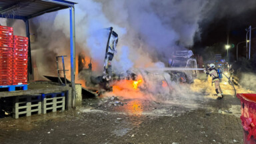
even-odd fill
[{"label": "canopy roof over the red crates, without its posts", "polygon": [[75,3],[65,0],[0,0],[0,17],[31,19],[74,5]]}]

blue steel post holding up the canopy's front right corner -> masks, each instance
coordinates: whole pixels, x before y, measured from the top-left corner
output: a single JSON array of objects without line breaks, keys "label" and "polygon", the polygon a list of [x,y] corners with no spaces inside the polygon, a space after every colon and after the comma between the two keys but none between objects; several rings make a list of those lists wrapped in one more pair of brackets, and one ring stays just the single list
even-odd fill
[{"label": "blue steel post holding up the canopy's front right corner", "polygon": [[75,108],[75,7],[69,7],[72,107]]}]

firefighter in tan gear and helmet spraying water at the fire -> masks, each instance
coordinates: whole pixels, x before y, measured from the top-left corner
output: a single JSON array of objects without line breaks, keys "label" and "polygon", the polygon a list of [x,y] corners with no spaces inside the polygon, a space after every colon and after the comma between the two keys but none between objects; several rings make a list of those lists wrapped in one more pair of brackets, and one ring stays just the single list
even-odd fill
[{"label": "firefighter in tan gear and helmet spraying water at the fire", "polygon": [[223,93],[222,93],[222,90],[221,90],[221,87],[219,85],[219,75],[217,73],[217,69],[215,69],[215,65],[213,63],[211,63],[209,65],[209,71],[206,71],[204,70],[204,72],[207,74],[207,75],[210,75],[212,78],[213,78],[213,81],[212,83],[214,83],[215,85],[215,91],[217,93],[217,99],[222,99],[223,98]]}]

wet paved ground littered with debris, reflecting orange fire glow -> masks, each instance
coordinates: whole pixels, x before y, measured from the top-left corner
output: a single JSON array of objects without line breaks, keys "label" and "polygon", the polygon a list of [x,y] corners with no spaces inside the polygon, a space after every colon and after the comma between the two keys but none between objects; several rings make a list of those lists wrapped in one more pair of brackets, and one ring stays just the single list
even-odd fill
[{"label": "wet paved ground littered with debris, reflecting orange fire glow", "polygon": [[[223,88],[228,89],[229,86]],[[243,143],[239,99],[224,95],[224,99],[217,100],[205,93],[193,103],[178,97],[168,101],[103,97],[85,99],[82,107],[71,111],[19,119],[6,117],[0,119],[0,141]]]}]

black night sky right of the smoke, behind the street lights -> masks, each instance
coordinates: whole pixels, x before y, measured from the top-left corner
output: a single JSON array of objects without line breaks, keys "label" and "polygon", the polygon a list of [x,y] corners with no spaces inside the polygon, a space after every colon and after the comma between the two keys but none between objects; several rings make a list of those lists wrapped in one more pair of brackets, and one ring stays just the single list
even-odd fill
[{"label": "black night sky right of the smoke, behind the street lights", "polygon": [[[242,1],[245,2],[245,1]],[[255,1],[256,2],[256,1]],[[226,5],[227,3],[219,3],[215,5],[211,13],[210,20],[205,18],[199,23],[201,29],[201,39],[195,39],[195,45],[193,51],[200,55],[203,55],[204,59],[207,59],[209,51],[213,53],[221,53],[223,57],[227,55],[225,45],[227,44],[227,37],[229,37],[229,44],[234,44],[235,47],[230,49],[230,61],[235,61],[237,43],[245,41],[246,31],[245,29],[249,25],[256,27],[256,3],[250,1],[248,3],[232,3],[232,5]],[[247,5],[255,3],[250,9],[246,9]],[[223,7],[226,5],[226,7]],[[227,9],[227,7],[229,7]],[[239,7],[241,9],[237,10]],[[249,35],[248,35],[249,36]],[[252,43],[251,51],[255,53],[256,49],[256,29],[252,31]],[[245,45],[246,43],[239,44],[239,57],[245,57]],[[206,48],[211,46],[211,48]]]}]

